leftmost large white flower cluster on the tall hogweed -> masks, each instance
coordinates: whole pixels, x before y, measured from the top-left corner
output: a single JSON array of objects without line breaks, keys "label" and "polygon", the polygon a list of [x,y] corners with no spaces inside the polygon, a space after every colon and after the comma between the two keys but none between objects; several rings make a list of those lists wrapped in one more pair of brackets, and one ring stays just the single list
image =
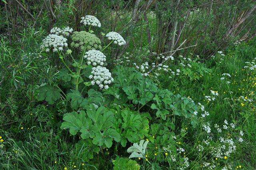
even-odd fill
[{"label": "leftmost large white flower cluster on the tall hogweed", "polygon": [[63,36],[58,36],[56,34],[49,34],[46,38],[43,40],[43,44],[40,46],[40,48],[45,49],[46,52],[49,52],[50,49],[53,47],[53,52],[62,51],[63,47],[68,46],[67,39]]}]

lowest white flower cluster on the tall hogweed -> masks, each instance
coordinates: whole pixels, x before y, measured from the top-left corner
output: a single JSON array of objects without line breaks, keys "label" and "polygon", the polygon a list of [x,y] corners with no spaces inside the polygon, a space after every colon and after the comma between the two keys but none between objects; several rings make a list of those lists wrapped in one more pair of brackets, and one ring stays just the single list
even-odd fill
[{"label": "lowest white flower cluster on the tall hogweed", "polygon": [[92,85],[97,84],[100,88],[105,89],[108,89],[108,84],[114,81],[109,70],[102,66],[93,67],[92,75],[89,78],[92,79]]}]

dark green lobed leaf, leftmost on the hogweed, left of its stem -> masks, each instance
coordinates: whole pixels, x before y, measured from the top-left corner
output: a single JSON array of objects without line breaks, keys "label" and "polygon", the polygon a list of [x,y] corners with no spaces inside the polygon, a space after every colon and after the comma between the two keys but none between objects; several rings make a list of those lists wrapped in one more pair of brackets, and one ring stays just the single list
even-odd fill
[{"label": "dark green lobed leaf, leftmost on the hogweed, left of its stem", "polygon": [[44,85],[38,88],[38,100],[45,100],[49,104],[54,104],[56,100],[60,99],[60,89],[53,88],[50,85]]}]

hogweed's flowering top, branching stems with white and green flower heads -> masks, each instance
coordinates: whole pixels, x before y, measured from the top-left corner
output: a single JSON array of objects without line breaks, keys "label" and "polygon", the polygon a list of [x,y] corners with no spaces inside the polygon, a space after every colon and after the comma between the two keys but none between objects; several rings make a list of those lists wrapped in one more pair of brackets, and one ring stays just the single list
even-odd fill
[{"label": "hogweed's flowering top, branching stems with white and green flower heads", "polygon": [[[96,84],[100,89],[107,89],[108,84],[113,81],[113,78],[109,70],[104,67],[106,66],[106,56],[102,52],[112,43],[122,46],[126,42],[117,32],[109,32],[106,34],[106,37],[112,41],[102,49],[100,39],[95,34],[92,34],[93,30],[91,29],[92,26],[100,28],[100,21],[95,16],[87,15],[81,18],[81,23],[89,26],[87,31],[73,32],[73,29],[70,27],[52,28],[51,34],[43,40],[41,48],[46,52],[57,52],[61,62],[69,71],[69,74],[66,76],[71,76],[73,79],[72,82],[75,85],[75,90],[78,90],[78,85],[81,83],[86,86]],[[71,44],[68,46],[69,36],[71,36]],[[73,48],[73,51],[70,48]],[[69,57],[72,58],[73,68],[66,64],[66,60]],[[89,76],[91,81],[84,82],[82,78],[84,73],[82,71],[90,67],[92,67]]]}]

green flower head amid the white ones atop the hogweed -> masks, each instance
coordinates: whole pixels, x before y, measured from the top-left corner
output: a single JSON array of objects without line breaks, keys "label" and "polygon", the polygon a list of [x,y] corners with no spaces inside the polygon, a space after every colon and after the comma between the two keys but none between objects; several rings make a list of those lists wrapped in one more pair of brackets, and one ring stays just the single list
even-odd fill
[{"label": "green flower head amid the white ones atop the hogweed", "polygon": [[73,32],[71,46],[81,51],[101,50],[101,42],[98,37],[86,31]]}]

